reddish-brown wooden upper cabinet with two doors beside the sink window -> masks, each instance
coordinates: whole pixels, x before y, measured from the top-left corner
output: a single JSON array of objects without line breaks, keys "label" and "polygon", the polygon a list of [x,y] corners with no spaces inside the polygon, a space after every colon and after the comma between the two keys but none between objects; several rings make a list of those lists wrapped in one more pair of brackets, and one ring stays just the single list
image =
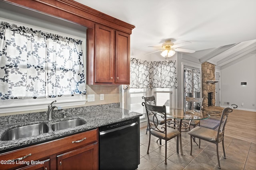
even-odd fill
[{"label": "reddish-brown wooden upper cabinet with two doors beside the sink window", "polygon": [[95,24],[95,54],[87,61],[87,84],[130,84],[130,34]]}]

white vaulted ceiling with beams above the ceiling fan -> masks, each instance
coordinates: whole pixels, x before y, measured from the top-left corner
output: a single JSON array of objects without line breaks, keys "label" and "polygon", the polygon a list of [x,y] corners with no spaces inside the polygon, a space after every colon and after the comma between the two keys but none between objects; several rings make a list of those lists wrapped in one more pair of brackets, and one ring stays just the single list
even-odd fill
[{"label": "white vaulted ceiling with beams above the ceiling fan", "polygon": [[[135,28],[131,51],[156,51],[171,39],[190,41],[186,59],[196,58],[224,68],[245,57],[256,57],[256,0],[76,0],[125,21]],[[156,55],[159,53],[156,53]]]}]

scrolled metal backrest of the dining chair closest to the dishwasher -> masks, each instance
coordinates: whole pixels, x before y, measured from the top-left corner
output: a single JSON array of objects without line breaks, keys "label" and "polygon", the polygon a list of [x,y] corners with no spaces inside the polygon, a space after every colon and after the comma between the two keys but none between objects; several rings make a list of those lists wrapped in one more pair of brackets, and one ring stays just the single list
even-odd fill
[{"label": "scrolled metal backrest of the dining chair closest to the dishwasher", "polygon": [[[150,115],[153,115],[153,121],[150,123],[150,129],[154,129],[155,131],[159,131],[161,133],[166,132],[166,107],[165,106],[154,106],[150,104],[146,104],[145,102],[142,103],[142,106],[146,107],[147,117],[149,119]],[[159,116],[164,119],[164,127],[159,127],[160,123],[158,121]]]}]

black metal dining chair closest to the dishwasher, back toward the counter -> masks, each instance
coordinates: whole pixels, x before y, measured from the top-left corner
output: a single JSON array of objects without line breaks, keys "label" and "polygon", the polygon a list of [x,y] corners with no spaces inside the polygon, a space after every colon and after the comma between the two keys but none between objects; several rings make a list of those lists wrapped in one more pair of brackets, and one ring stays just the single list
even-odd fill
[{"label": "black metal dining chair closest to the dishwasher, back toward the counter", "polygon": [[[179,153],[179,134],[180,132],[166,126],[166,106],[154,106],[150,104],[146,104],[145,102],[142,103],[142,106],[146,107],[147,117],[153,115],[152,122],[149,123],[150,133],[149,133],[149,141],[148,141],[148,151],[150,147],[150,138],[151,135],[158,137],[159,139],[165,140],[165,162],[167,164],[167,141],[177,137],[176,143],[176,150]],[[164,119],[164,124],[160,125],[158,117]],[[147,151],[147,154],[149,152]]]}]

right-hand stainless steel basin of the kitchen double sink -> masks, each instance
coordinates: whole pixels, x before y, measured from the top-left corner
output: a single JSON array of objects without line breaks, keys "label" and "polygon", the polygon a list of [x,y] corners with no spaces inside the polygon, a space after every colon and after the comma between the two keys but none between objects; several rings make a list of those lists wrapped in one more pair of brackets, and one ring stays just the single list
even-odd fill
[{"label": "right-hand stainless steel basin of the kitchen double sink", "polygon": [[51,127],[53,131],[58,131],[61,129],[67,129],[70,127],[76,127],[84,124],[85,124],[85,121],[81,119],[72,119],[72,120],[66,120],[66,121],[59,121],[57,123],[52,124]]}]

